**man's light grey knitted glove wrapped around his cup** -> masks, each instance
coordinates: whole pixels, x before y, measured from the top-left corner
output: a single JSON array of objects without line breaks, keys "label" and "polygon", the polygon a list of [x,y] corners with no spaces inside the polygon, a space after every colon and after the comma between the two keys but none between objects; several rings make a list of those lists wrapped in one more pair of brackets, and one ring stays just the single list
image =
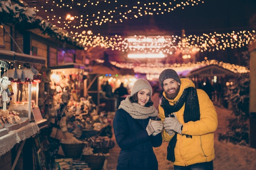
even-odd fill
[{"label": "man's light grey knitted glove wrapped around his cup", "polygon": [[164,129],[167,130],[166,132],[168,133],[169,130],[173,130],[177,133],[182,132],[182,124],[179,122],[179,120],[177,119],[176,115],[174,114],[174,118],[165,118],[164,119]]}]

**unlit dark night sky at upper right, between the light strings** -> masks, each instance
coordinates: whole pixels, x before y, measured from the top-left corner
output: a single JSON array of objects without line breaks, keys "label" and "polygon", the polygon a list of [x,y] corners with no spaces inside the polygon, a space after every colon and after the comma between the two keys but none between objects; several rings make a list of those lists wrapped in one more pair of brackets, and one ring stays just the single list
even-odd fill
[{"label": "unlit dark night sky at upper right, between the light strings", "polygon": [[256,0],[205,0],[204,4],[155,15],[160,28],[177,33],[200,34],[252,29],[249,18],[256,13]]}]

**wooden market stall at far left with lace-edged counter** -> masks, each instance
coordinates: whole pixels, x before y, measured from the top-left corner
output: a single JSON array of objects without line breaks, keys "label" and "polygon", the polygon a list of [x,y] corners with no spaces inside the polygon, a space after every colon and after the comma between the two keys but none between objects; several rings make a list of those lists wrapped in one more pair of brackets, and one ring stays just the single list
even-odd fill
[{"label": "wooden market stall at far left with lace-edged counter", "polygon": [[[32,159],[34,150],[31,150],[31,144],[33,146],[35,140],[34,137],[39,135],[40,130],[46,127],[46,121],[40,123],[39,119],[37,119],[38,122],[35,121],[35,116],[32,115],[32,108],[35,104],[38,104],[38,88],[34,95],[32,95],[31,92],[32,84],[35,84],[35,87],[38,87],[39,83],[39,81],[34,82],[34,76],[36,76],[35,72],[38,73],[34,67],[45,65],[45,59],[43,57],[35,57],[28,54],[0,50],[0,60],[1,63],[7,63],[6,67],[1,67],[1,78],[6,77],[7,80],[9,79],[8,81],[12,81],[10,81],[12,91],[11,96],[9,96],[12,100],[8,100],[6,105],[3,102],[1,111],[14,113],[15,110],[15,113],[19,113],[18,117],[20,117],[19,122],[9,122],[8,124],[5,122],[3,128],[0,130],[0,169],[14,170],[17,164],[21,170],[23,168],[33,168],[33,166],[35,166],[33,161],[36,159]],[[18,65],[21,67],[19,68]],[[28,66],[29,68],[24,66]],[[33,68],[35,72],[31,72],[31,68]],[[29,71],[29,74],[27,74],[27,71]],[[15,74],[12,74],[14,72]],[[23,100],[19,100],[18,94],[16,93],[18,91],[22,92],[22,95],[19,96],[22,96]],[[31,102],[32,100],[34,101],[34,105]],[[10,110],[13,103],[16,107],[13,107]],[[22,113],[26,114],[22,115],[21,112],[19,112],[21,111],[19,110],[21,108],[25,109]],[[30,149],[28,149],[28,146],[30,146]],[[39,151],[40,154],[44,154],[43,152],[43,150]],[[26,155],[26,158],[20,155]],[[37,160],[39,161],[39,159]]]}]

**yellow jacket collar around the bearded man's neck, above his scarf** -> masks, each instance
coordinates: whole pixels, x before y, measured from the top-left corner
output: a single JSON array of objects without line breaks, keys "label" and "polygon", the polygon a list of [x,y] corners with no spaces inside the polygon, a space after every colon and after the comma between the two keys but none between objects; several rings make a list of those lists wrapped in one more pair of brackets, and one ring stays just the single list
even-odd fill
[{"label": "yellow jacket collar around the bearded man's neck, above his scarf", "polygon": [[164,97],[169,101],[169,103],[171,105],[174,105],[174,103],[176,103],[179,100],[179,98],[182,95],[184,89],[186,89],[188,87],[195,87],[195,84],[189,78],[180,78],[180,81],[181,81],[181,83],[180,83],[180,92],[178,93],[178,95],[173,100],[170,100],[170,99],[166,98],[165,92],[163,92]]}]

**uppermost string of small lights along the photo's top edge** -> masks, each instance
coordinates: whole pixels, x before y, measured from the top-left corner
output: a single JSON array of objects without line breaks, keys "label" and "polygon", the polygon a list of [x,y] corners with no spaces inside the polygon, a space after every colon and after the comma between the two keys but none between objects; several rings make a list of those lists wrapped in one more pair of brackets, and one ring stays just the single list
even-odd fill
[{"label": "uppermost string of small lights along the photo's top edge", "polygon": [[[182,8],[185,9],[186,6],[195,6],[200,3],[204,3],[202,0],[188,0],[186,2],[177,2],[176,0],[166,1],[166,2],[137,2],[135,4],[131,4],[132,2],[126,2],[127,4],[122,0],[119,1],[94,1],[91,0],[83,2],[83,5],[81,3],[74,3],[72,1],[70,2],[56,2],[53,0],[48,0],[45,3],[38,2],[34,5],[34,9],[37,10],[38,13],[45,12],[47,13],[47,17],[49,17],[48,20],[54,19],[54,11],[57,11],[58,8],[61,8],[62,10],[77,10],[81,11],[81,13],[74,15],[74,21],[68,22],[69,18],[65,16],[60,16],[58,20],[58,24],[56,24],[59,27],[62,27],[61,24],[65,23],[65,28],[80,28],[80,24],[83,24],[85,27],[92,26],[92,25],[102,25],[105,22],[123,22],[123,20],[126,20],[128,18],[137,18],[142,17],[144,15],[159,15],[164,13],[170,13],[171,11],[174,11],[175,9]],[[97,6],[97,7],[96,7]],[[100,6],[100,7],[98,7]],[[102,9],[104,7],[104,9]],[[99,8],[101,9],[100,11]],[[48,11],[53,11],[53,13],[48,13]],[[84,12],[85,11],[85,12]],[[75,13],[75,12],[74,12]],[[77,12],[76,12],[77,13]],[[52,14],[52,16],[49,16]],[[83,21],[83,22],[82,22]]]}]

